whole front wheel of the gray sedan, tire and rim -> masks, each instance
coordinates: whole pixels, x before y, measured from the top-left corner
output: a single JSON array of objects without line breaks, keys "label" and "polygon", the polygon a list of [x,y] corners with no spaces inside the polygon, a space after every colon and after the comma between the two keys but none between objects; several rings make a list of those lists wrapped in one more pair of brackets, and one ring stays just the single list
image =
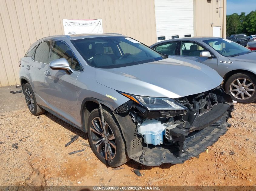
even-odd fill
[{"label": "whole front wheel of the gray sedan, tire and rim", "polygon": [[255,77],[250,74],[234,74],[226,82],[225,89],[232,100],[251,103],[256,99],[255,82]]}]

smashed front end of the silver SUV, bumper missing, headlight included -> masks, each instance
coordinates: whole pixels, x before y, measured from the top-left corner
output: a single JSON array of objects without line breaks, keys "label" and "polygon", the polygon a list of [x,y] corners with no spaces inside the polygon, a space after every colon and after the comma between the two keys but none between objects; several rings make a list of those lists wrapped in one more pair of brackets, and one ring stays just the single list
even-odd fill
[{"label": "smashed front end of the silver SUV, bumper missing, headlight included", "polygon": [[147,166],[183,163],[205,151],[227,131],[234,107],[220,87],[174,100],[119,93],[130,99],[113,112],[128,157]]}]

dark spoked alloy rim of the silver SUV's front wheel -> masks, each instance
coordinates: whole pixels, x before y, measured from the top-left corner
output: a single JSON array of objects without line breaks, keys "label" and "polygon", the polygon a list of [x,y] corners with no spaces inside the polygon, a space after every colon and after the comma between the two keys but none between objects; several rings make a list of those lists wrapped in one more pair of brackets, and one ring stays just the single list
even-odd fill
[{"label": "dark spoked alloy rim of the silver SUV's front wheel", "polygon": [[95,117],[91,121],[90,133],[92,144],[97,148],[97,152],[105,160],[115,158],[116,142],[110,126],[105,121],[105,128],[102,127],[100,117]]}]

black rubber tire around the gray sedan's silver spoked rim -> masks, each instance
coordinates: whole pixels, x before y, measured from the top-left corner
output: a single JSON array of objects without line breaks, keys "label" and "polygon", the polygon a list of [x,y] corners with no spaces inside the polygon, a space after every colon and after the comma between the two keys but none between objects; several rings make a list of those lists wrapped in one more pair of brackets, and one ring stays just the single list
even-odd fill
[{"label": "black rubber tire around the gray sedan's silver spoked rim", "polygon": [[[249,87],[245,87],[245,86],[241,86],[241,85],[238,86],[239,84],[237,82],[237,79],[240,81],[241,85],[242,85],[242,82],[243,82],[244,79],[246,79],[245,84],[252,83],[252,85],[250,85]],[[238,87],[235,87],[233,85],[231,86],[232,82],[234,82],[233,84],[238,86]],[[254,75],[250,74],[250,73],[234,74],[234,75],[230,76],[228,78],[228,80],[226,81],[226,83],[225,83],[225,91],[229,95],[231,95],[232,100],[237,101],[238,103],[252,103],[252,102],[254,102],[256,100],[256,92],[255,92],[256,89],[255,89],[255,87],[256,87],[256,77]],[[235,95],[238,93],[238,91],[235,91],[235,89],[238,89],[238,91],[240,90],[237,98],[235,97]],[[254,91],[248,91],[248,89],[250,89],[250,90],[254,89]],[[231,90],[233,90],[233,91],[231,92]],[[248,96],[247,94],[245,94],[243,91],[244,92],[248,91],[247,93],[250,94],[251,97]],[[240,92],[244,93],[244,98],[245,99],[242,99],[242,94]]]}]

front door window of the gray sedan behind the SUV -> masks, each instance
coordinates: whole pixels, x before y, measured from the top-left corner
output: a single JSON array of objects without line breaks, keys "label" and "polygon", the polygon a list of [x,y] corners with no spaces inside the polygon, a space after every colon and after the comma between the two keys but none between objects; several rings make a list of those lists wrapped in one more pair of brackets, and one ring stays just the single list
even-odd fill
[{"label": "front door window of the gray sedan behind the SUV", "polygon": [[181,56],[200,56],[200,53],[203,51],[205,51],[205,49],[197,43],[181,43]]}]

